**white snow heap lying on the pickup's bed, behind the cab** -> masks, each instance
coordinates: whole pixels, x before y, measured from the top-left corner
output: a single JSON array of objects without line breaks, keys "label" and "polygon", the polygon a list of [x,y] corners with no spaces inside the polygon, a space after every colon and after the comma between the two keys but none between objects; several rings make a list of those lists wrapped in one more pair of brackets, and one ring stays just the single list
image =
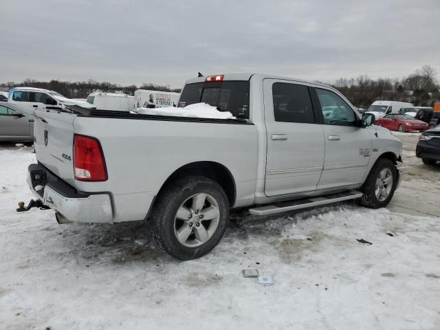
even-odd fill
[{"label": "white snow heap lying on the pickup's bed, behind the cab", "polygon": [[219,111],[217,107],[212,107],[206,103],[190,104],[184,108],[163,107],[163,108],[137,108],[137,113],[142,115],[173,115],[175,117],[192,118],[217,118],[235,119],[229,111]]}]

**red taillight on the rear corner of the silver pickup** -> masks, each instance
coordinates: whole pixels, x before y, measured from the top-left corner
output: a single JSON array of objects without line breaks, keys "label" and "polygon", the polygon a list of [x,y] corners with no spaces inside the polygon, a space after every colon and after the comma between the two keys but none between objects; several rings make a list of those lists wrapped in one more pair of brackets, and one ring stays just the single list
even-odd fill
[{"label": "red taillight on the rear corner of the silver pickup", "polygon": [[95,137],[74,135],[74,173],[80,181],[106,181],[104,154]]}]

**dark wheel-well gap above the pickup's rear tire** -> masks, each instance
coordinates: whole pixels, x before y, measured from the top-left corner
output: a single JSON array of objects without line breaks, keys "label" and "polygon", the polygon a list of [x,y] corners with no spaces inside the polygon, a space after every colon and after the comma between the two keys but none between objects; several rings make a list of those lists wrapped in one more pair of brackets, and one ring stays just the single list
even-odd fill
[{"label": "dark wheel-well gap above the pickup's rear tire", "polygon": [[217,184],[223,188],[226,196],[228,197],[229,205],[234,206],[236,199],[236,185],[235,180],[230,170],[223,164],[217,162],[193,162],[177,168],[166,179],[157,195],[166,188],[168,185],[173,184],[173,181],[177,181],[182,177],[199,175],[207,177],[212,181],[216,181]]}]

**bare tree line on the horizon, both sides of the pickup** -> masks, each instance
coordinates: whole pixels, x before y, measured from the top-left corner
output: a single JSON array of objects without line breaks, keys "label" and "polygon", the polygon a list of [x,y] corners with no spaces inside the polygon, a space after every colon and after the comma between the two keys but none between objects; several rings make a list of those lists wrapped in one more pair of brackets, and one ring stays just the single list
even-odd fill
[{"label": "bare tree line on the horizon, both sides of the pickup", "polygon": [[[423,65],[407,77],[377,78],[371,79],[362,75],[358,78],[339,78],[331,84],[346,96],[356,107],[366,108],[375,100],[396,100],[411,102],[417,106],[432,106],[434,101],[440,99],[439,85],[437,85],[437,71],[430,65]],[[144,83],[136,85],[118,85],[107,82],[99,83],[95,80],[69,82],[50,80],[49,82],[26,79],[22,83],[3,83],[0,87],[9,89],[12,87],[38,87],[58,91],[67,98],[87,98],[96,90],[115,92],[122,91],[125,94],[133,95],[136,89],[151,89],[156,91],[175,91],[168,85],[155,85]]]}]

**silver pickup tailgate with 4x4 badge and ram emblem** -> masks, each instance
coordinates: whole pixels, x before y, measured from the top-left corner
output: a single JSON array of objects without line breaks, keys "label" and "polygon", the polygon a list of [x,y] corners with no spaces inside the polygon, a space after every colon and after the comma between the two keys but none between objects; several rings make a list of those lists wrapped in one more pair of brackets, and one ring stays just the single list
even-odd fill
[{"label": "silver pickup tailgate with 4x4 badge and ram emblem", "polygon": [[76,115],[34,111],[36,159],[48,170],[74,186],[73,142]]}]

